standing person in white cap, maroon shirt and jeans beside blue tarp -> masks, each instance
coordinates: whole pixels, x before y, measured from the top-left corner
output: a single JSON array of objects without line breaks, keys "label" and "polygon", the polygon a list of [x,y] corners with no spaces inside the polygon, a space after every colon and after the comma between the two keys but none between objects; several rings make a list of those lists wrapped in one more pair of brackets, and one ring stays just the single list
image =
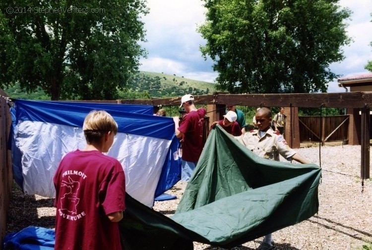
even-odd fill
[{"label": "standing person in white cap, maroon shirt and jeans beside blue tarp", "polygon": [[203,123],[206,110],[196,109],[194,97],[190,94],[181,98],[181,106],[187,113],[180,124],[180,118],[174,117],[175,133],[182,139],[182,172],[181,180],[188,181],[203,150]]}]

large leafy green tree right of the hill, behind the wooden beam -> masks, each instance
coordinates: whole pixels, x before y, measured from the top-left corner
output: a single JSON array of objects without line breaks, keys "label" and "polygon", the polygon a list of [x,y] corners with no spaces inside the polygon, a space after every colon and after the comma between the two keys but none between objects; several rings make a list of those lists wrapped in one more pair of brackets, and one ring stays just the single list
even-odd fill
[{"label": "large leafy green tree right of the hill, behind the wooden beam", "polygon": [[200,50],[231,93],[326,92],[351,42],[338,0],[204,0]]}]

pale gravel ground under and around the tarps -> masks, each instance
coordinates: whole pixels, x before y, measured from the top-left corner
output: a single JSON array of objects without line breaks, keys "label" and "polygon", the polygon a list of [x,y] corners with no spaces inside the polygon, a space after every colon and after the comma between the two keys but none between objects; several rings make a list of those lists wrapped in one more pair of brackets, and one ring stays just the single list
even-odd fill
[{"label": "pale gravel ground under and around the tarps", "polygon": [[[357,250],[372,244],[372,181],[360,179],[361,147],[326,145],[303,147],[298,153],[322,167],[319,185],[319,211],[310,219],[273,233],[276,250]],[[282,159],[282,161],[285,161]],[[371,161],[372,162],[372,161]],[[24,195],[13,186],[7,233],[27,226],[54,228],[53,199],[38,195]],[[167,193],[177,199],[155,202],[154,209],[174,214],[186,183],[179,182]],[[255,250],[262,238],[243,244],[234,250]],[[370,245],[369,245],[370,246]],[[222,250],[194,243],[195,250]]]}]

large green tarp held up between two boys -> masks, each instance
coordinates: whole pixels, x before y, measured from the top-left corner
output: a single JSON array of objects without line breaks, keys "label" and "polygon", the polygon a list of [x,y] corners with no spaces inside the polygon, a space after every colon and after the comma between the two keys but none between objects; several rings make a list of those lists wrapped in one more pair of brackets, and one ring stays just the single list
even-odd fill
[{"label": "large green tarp held up between two boys", "polygon": [[318,211],[321,169],[254,155],[219,125],[204,146],[176,214],[127,199],[125,249],[192,249],[192,241],[232,248]]}]

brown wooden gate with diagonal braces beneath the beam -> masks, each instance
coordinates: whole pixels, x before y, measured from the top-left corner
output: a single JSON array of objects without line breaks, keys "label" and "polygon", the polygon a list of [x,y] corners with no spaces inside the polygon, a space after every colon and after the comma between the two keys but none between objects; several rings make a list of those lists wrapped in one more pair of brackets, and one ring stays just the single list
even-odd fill
[{"label": "brown wooden gate with diagonal braces beneath the beam", "polygon": [[348,141],[349,116],[299,116],[300,142]]}]

